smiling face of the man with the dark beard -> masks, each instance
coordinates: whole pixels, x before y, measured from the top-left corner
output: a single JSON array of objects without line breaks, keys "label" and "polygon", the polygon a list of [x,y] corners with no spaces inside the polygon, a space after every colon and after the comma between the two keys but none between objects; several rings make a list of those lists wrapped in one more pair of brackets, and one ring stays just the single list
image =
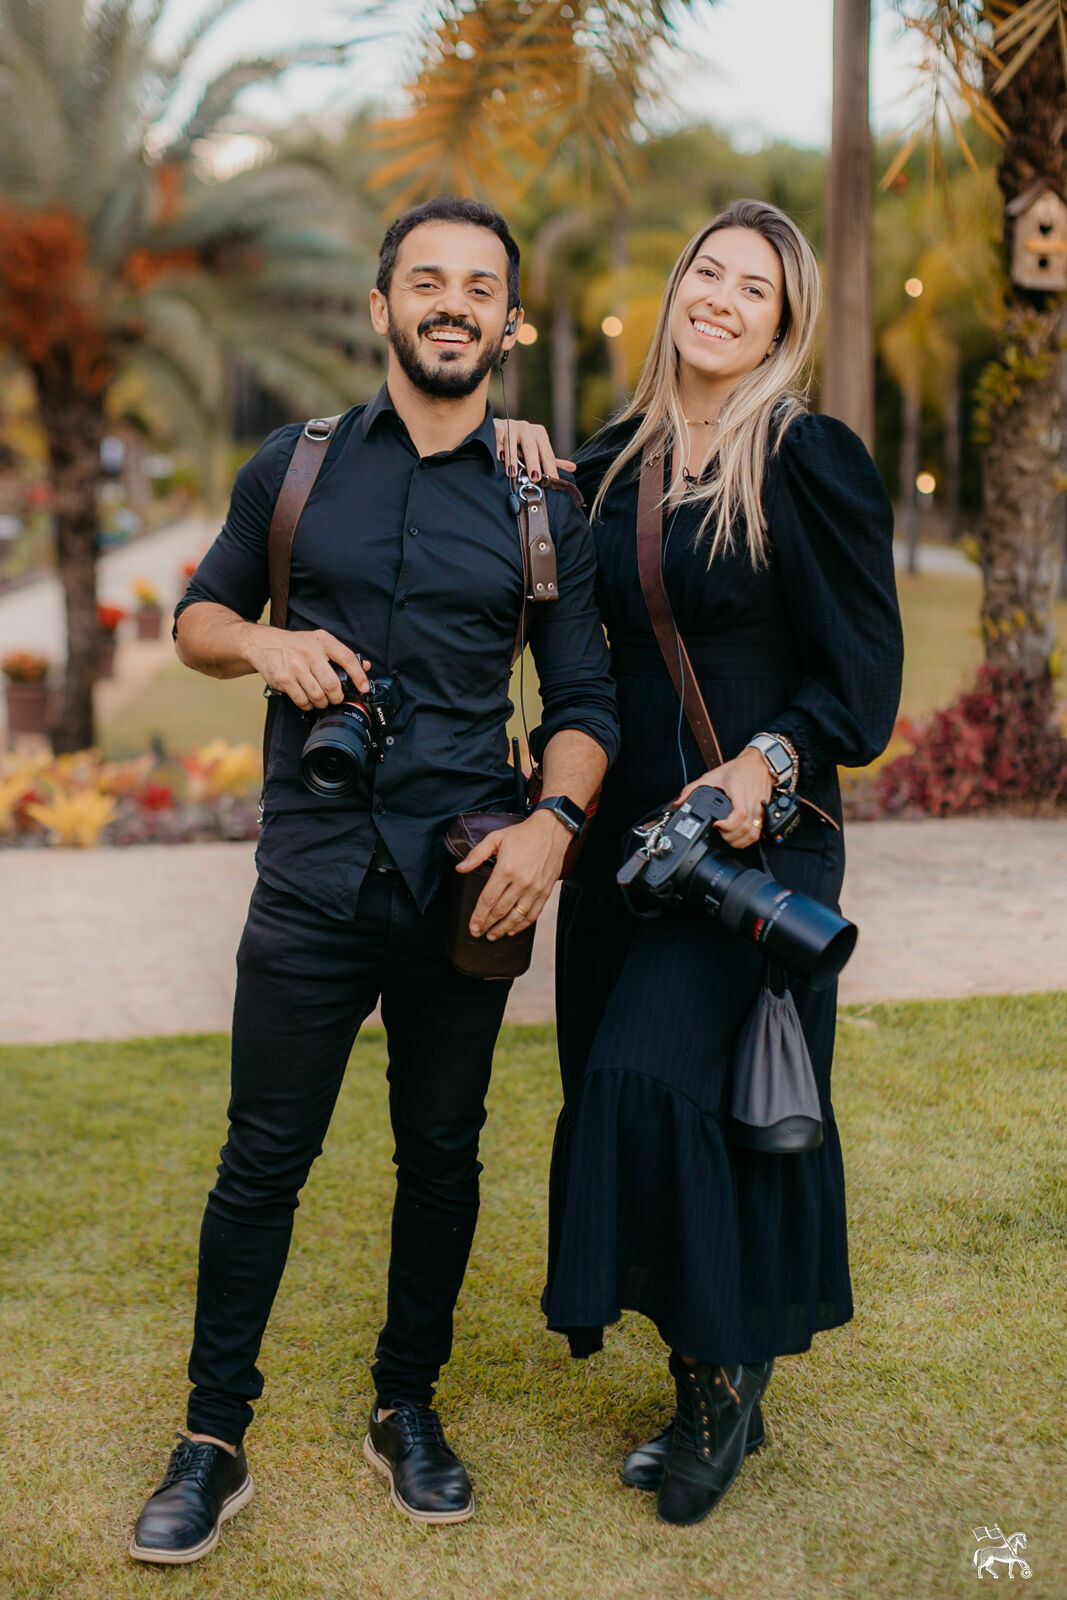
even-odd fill
[{"label": "smiling face of the man with the dark beard", "polygon": [[400,243],[389,294],[371,290],[371,322],[422,394],[474,394],[501,350],[515,342],[515,333],[504,333],[502,242],[470,222],[419,224]]}]

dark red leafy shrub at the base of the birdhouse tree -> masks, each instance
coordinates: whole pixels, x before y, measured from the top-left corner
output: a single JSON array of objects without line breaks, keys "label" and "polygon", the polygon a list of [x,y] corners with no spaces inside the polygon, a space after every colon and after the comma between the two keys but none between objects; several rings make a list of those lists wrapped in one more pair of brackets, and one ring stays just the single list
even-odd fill
[{"label": "dark red leafy shrub at the base of the birdhouse tree", "polygon": [[875,778],[883,814],[960,816],[987,806],[1067,803],[1067,739],[1053,680],[979,667],[973,690],[912,734]]}]

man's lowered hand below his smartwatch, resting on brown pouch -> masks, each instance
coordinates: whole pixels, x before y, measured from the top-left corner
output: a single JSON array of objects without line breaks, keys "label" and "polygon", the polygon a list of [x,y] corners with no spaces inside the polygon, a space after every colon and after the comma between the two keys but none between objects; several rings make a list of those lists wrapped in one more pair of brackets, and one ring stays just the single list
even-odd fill
[{"label": "man's lowered hand below his smartwatch, resting on brown pouch", "polygon": [[560,877],[569,842],[566,827],[550,811],[534,811],[525,822],[486,834],[475,845],[456,872],[474,872],[496,856],[493,877],[470,917],[475,939],[480,934],[488,939],[510,938],[537,920]]}]

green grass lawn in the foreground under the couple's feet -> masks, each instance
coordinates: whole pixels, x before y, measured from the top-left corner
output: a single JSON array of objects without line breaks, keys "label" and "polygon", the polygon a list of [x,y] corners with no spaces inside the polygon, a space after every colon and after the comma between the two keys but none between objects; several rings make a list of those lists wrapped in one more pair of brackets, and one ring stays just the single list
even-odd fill
[{"label": "green grass lawn in the foreground under the couple's feet", "polygon": [[360,1454],[392,1170],[381,1034],[352,1056],[298,1214],[250,1438],[256,1499],[192,1568],[125,1542],[182,1421],[198,1214],[226,1040],[0,1051],[5,1600],[950,1600],[971,1528],[1027,1534],[1064,1594],[1062,1040],[1067,995],[843,1013],[837,1102],[857,1317],[784,1360],[769,1445],[701,1526],[624,1490],[669,1411],[627,1318],[589,1363],[537,1314],[557,1074],[507,1029],[483,1214],[442,1384],[478,1515],[419,1530]]}]

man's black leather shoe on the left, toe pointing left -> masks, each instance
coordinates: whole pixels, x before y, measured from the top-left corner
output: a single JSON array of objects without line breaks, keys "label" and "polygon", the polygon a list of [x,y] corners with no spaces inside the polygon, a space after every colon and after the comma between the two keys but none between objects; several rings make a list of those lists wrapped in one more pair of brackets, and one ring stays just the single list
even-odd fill
[{"label": "man's black leather shoe on the left, toe pointing left", "polygon": [[178,1438],[163,1482],[133,1530],[130,1554],[138,1562],[198,1562],[219,1542],[222,1523],[253,1498],[243,1445],[232,1456],[221,1445],[197,1443],[184,1434]]}]

